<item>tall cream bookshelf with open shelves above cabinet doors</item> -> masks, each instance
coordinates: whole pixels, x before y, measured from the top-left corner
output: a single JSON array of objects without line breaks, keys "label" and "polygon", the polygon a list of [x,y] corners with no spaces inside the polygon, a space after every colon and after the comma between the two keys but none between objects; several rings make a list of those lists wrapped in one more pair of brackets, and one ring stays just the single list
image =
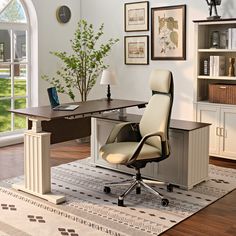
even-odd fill
[{"label": "tall cream bookshelf with open shelves above cabinet doors", "polygon": [[[229,76],[229,60],[230,58],[236,59],[236,48],[229,45],[228,35],[229,29],[236,28],[236,18],[193,22],[195,29],[194,107],[196,121],[212,124],[210,128],[210,155],[236,160],[236,145],[234,144],[236,139],[236,104],[228,104],[228,100],[224,100],[229,94],[225,87],[228,89],[228,87],[236,86],[236,77]],[[218,42],[212,41],[213,33],[218,37],[216,37]],[[221,41],[223,36],[224,41]],[[221,76],[210,74],[210,57],[218,56],[225,57],[225,73]],[[206,60],[208,63],[204,63]],[[235,65],[234,69],[236,74]],[[218,96],[222,97],[221,103],[209,102],[209,96],[211,96],[209,87],[212,84],[221,84],[221,87],[225,89],[222,90],[222,93],[218,91]],[[230,96],[236,96],[236,94],[233,93]],[[231,100],[229,99],[229,101]]]}]

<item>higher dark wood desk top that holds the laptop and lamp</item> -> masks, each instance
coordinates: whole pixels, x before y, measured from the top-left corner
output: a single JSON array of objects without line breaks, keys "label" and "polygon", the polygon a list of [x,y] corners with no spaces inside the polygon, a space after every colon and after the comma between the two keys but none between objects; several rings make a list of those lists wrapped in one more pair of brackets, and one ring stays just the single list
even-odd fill
[{"label": "higher dark wood desk top that holds the laptop and lamp", "polygon": [[52,120],[64,117],[92,115],[93,113],[100,113],[104,111],[110,111],[134,106],[143,107],[145,106],[145,104],[147,104],[147,102],[120,100],[120,99],[113,99],[112,101],[108,102],[105,99],[98,99],[98,100],[90,100],[86,102],[76,102],[68,104],[79,104],[79,107],[74,111],[54,111],[51,109],[50,106],[41,106],[41,107],[30,107],[25,109],[16,109],[16,110],[11,110],[11,112],[24,116],[38,117]]}]

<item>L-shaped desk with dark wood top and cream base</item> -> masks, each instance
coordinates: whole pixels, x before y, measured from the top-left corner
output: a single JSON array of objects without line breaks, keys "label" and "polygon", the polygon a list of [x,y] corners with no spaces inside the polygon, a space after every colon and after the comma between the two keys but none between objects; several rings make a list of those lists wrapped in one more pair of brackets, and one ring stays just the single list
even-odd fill
[{"label": "L-shaped desk with dark wood top and cream base", "polygon": [[[74,111],[53,111],[50,106],[11,111],[29,119],[29,130],[24,135],[25,180],[22,185],[13,185],[15,189],[55,204],[64,202],[65,196],[51,192],[50,144],[87,137],[91,133],[94,164],[128,172],[122,167],[109,167],[102,162],[98,154],[99,145],[104,143],[105,136],[115,123],[139,121],[140,116],[126,114],[126,108],[143,108],[147,102],[118,99],[107,102],[100,99],[76,104],[79,104],[79,108]],[[118,113],[111,112],[115,110]],[[170,129],[170,142],[173,142],[172,160],[168,158],[163,165],[147,168],[144,175],[171,180],[173,184],[189,189],[208,177],[209,124],[171,120]],[[157,170],[160,174],[157,174]]]}]

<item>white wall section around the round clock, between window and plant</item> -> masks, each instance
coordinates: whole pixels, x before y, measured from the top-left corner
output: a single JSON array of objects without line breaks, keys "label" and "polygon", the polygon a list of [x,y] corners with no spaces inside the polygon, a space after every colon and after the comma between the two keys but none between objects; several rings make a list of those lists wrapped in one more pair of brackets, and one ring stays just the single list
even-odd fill
[{"label": "white wall section around the round clock, between window and plant", "polygon": [[[32,105],[49,104],[46,88],[49,84],[41,79],[42,75],[55,75],[59,68],[59,60],[50,55],[50,51],[70,51],[70,39],[73,38],[77,22],[80,19],[80,0],[24,0],[29,7],[32,2],[37,17],[38,42],[33,47],[38,47],[38,71],[33,75]],[[56,19],[56,10],[61,5],[67,5],[71,9],[71,20],[66,24],[60,24]],[[32,19],[33,20],[33,19]],[[35,25],[35,23],[33,23]],[[33,26],[34,27],[34,26]],[[34,48],[35,49],[35,48]],[[34,60],[37,61],[36,58]],[[35,68],[32,68],[33,70]],[[61,100],[67,101],[67,97],[61,96]]]}]

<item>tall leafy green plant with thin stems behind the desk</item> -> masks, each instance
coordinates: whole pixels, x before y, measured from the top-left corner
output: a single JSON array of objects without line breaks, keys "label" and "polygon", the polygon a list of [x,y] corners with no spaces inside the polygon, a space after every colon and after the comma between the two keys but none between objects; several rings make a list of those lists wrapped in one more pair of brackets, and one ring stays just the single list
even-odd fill
[{"label": "tall leafy green plant with thin stems behind the desk", "polygon": [[119,41],[111,38],[98,45],[104,34],[103,29],[104,24],[95,32],[92,24],[84,19],[80,20],[74,39],[71,40],[73,53],[50,52],[63,62],[63,66],[56,72],[55,77],[44,75],[42,78],[55,86],[59,93],[69,95],[72,100],[75,100],[75,89],[79,90],[81,101],[86,101],[98,76],[102,70],[108,68],[104,58]]}]

